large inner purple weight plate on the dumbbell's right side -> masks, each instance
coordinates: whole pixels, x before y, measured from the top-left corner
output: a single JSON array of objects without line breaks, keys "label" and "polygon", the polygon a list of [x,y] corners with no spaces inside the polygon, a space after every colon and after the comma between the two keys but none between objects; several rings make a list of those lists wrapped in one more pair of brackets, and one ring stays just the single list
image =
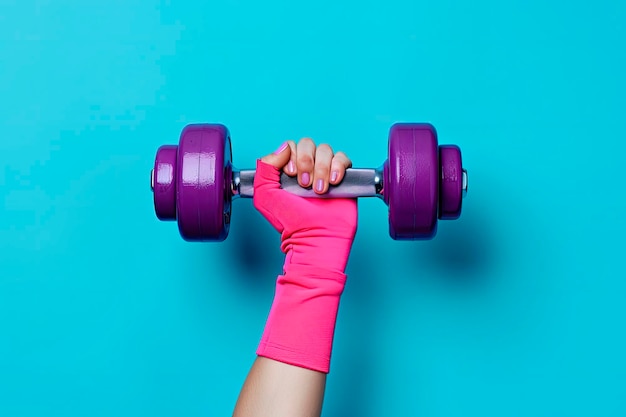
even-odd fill
[{"label": "large inner purple weight plate on the dumbbell's right side", "polygon": [[399,123],[389,132],[385,202],[395,240],[432,239],[437,232],[439,155],[430,124]]}]

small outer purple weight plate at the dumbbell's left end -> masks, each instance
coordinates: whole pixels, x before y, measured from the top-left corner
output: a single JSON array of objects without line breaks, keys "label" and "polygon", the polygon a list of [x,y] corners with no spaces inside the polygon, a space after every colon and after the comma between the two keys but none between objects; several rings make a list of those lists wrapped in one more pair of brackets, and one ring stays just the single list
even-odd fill
[{"label": "small outer purple weight plate at the dumbbell's left end", "polygon": [[157,150],[152,171],[154,211],[159,220],[176,220],[176,150],[164,145]]}]

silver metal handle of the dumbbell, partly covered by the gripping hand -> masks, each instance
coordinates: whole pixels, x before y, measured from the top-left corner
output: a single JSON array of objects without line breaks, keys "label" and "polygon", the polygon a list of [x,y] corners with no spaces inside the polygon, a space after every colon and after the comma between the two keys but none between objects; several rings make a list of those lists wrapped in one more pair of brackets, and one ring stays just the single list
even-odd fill
[{"label": "silver metal handle of the dumbbell, partly covered by the gripping hand", "polygon": [[[254,196],[255,170],[233,170],[233,198],[252,198]],[[314,198],[357,198],[380,197],[383,190],[383,168],[350,168],[346,170],[339,185],[330,185],[328,192],[320,195],[312,187],[304,188],[297,177],[290,177],[284,172],[280,176],[281,188],[301,197]]]}]

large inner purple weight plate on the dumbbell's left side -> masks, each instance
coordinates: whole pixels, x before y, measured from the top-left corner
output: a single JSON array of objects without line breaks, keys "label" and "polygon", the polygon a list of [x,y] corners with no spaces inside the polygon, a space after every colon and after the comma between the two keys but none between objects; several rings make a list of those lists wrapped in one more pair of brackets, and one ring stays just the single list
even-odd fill
[{"label": "large inner purple weight plate on the dumbbell's left side", "polygon": [[[223,125],[183,129],[178,146],[178,229],[187,241],[226,239],[230,228],[231,145]],[[228,190],[230,191],[230,190]]]}]

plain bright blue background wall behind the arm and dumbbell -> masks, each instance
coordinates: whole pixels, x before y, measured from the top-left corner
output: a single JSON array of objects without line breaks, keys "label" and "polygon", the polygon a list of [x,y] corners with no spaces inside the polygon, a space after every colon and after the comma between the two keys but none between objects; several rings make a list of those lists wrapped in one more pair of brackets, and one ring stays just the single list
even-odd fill
[{"label": "plain bright blue background wall behind the arm and dumbbell", "polygon": [[324,416],[626,415],[624,2],[0,0],[0,415],[230,415],[282,255],[159,222],[187,123],[234,160],[398,121],[463,150],[436,239],[360,201]]}]

